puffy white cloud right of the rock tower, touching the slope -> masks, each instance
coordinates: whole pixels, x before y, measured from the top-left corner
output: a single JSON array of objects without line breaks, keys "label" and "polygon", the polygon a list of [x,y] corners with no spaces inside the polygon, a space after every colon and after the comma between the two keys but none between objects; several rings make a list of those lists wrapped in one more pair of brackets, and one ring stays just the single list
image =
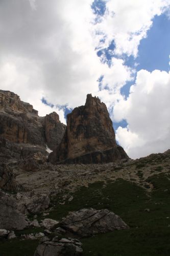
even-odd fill
[{"label": "puffy white cloud right of the rock tower, touching the slope", "polygon": [[170,72],[140,70],[127,100],[115,103],[114,118],[126,119],[119,127],[117,140],[130,157],[163,152],[170,141]]}]

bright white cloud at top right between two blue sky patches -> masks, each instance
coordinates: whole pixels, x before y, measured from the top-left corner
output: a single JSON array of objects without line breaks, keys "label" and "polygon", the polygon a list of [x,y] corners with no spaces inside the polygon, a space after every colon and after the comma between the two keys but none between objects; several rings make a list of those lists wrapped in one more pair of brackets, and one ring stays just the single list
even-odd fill
[{"label": "bright white cloud at top right between two blue sky patches", "polygon": [[[114,39],[115,54],[137,56],[140,40],[147,36],[152,19],[170,6],[169,0],[108,0],[102,22],[96,25],[100,47],[108,47]],[[99,33],[100,32],[100,33]]]}]

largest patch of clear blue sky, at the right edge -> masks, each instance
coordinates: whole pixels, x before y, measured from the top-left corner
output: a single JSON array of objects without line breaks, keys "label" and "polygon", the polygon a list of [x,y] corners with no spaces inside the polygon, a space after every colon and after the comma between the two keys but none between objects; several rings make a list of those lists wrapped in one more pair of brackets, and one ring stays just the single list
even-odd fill
[{"label": "largest patch of clear blue sky, at the right edge", "polygon": [[170,19],[167,15],[155,16],[152,28],[148,31],[147,38],[141,40],[138,50],[137,71],[170,70]]}]

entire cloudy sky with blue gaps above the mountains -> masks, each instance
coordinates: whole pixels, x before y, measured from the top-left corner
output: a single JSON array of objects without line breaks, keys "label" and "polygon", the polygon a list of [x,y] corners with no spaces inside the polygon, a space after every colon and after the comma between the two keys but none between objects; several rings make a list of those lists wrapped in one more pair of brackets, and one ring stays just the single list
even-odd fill
[{"label": "entire cloudy sky with blue gaps above the mountains", "polygon": [[0,88],[44,116],[99,96],[131,158],[170,148],[170,0],[1,0]]}]

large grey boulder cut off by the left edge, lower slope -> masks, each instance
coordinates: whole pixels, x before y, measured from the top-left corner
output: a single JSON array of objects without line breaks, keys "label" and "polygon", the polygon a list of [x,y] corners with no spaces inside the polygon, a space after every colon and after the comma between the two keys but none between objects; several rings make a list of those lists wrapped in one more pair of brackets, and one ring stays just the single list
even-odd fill
[{"label": "large grey boulder cut off by the left edge, lower slope", "polygon": [[0,195],[0,228],[8,230],[22,230],[28,222],[18,210],[14,199]]}]

